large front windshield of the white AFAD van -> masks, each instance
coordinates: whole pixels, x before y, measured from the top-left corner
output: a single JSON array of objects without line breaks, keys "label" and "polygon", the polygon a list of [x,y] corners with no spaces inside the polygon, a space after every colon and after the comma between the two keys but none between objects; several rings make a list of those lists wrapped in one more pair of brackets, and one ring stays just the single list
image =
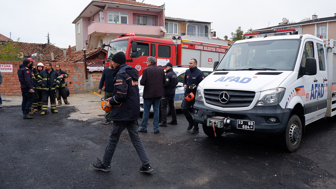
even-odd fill
[{"label": "large front windshield of the white AFAD van", "polygon": [[216,70],[294,70],[300,39],[234,43]]}]

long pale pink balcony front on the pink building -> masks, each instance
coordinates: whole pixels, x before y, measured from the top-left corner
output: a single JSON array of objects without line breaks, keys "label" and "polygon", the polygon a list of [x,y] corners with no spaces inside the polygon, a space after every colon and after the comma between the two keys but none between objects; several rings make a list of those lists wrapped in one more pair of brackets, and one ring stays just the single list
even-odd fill
[{"label": "long pale pink balcony front on the pink building", "polygon": [[87,27],[88,35],[101,34],[125,34],[136,33],[144,36],[163,36],[164,32],[160,26],[146,26],[134,24],[116,24],[105,22],[93,22]]}]

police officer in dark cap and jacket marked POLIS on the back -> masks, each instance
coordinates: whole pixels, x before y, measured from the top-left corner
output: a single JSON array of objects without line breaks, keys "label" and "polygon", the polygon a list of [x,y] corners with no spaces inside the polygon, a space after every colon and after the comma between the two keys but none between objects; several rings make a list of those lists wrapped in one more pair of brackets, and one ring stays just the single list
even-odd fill
[{"label": "police officer in dark cap and jacket marked POLIS on the back", "polygon": [[[166,127],[167,124],[177,125],[174,97],[178,81],[177,75],[173,71],[173,65],[170,62],[163,67],[166,69],[166,83],[163,85],[163,97],[161,99],[162,123],[160,123],[159,126]],[[171,121],[168,123],[167,105],[169,105],[169,110],[171,112]]]}]

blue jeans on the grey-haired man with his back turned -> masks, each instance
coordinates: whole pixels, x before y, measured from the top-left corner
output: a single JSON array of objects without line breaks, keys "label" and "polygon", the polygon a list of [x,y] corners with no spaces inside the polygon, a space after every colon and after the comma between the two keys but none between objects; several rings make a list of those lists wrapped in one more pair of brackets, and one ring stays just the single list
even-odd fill
[{"label": "blue jeans on the grey-haired man with his back turned", "polygon": [[154,131],[159,130],[160,102],[161,102],[161,97],[143,99],[143,115],[142,115],[142,123],[141,123],[141,128],[143,130],[147,130],[149,111],[151,110],[152,105],[153,105],[153,110],[154,110],[153,129]]}]

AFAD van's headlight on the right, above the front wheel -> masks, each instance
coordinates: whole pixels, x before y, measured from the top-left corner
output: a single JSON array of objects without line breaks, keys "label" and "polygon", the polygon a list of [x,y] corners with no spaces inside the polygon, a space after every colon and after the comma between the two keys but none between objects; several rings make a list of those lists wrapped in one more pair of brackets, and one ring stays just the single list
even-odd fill
[{"label": "AFAD van's headlight on the right, above the front wheel", "polygon": [[260,92],[260,97],[256,106],[278,105],[285,95],[286,88],[277,87]]}]

